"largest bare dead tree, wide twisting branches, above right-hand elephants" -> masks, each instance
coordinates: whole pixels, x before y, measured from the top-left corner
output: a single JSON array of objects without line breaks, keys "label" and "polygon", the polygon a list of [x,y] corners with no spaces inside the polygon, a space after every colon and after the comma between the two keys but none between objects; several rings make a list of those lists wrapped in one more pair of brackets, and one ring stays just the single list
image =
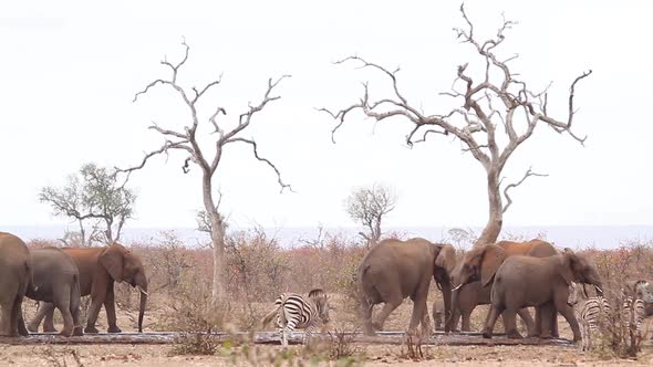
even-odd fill
[{"label": "largest bare dead tree, wide twisting branches, above right-hand elephants", "polygon": [[500,191],[501,172],[517,147],[532,136],[536,126],[540,123],[545,124],[556,133],[568,134],[583,145],[587,137],[581,138],[571,130],[576,113],[573,97],[576,85],[592,71],[584,72],[573,80],[568,96],[567,116],[562,119],[556,118],[548,113],[547,108],[549,87],[541,92],[532,92],[527,83],[519,78],[519,74],[510,71],[508,66],[508,63],[517,55],[501,59],[497,54],[499,45],[505,40],[506,31],[516,23],[504,19],[495,38],[479,41],[474,34],[474,25],[463,6],[460,6],[460,12],[466,28],[455,29],[457,38],[462,43],[474,48],[484,62],[484,73],[479,77],[475,76],[477,78],[475,82],[467,72],[468,63],[457,67],[457,77],[454,80],[450,92],[442,94],[459,99],[459,107],[443,114],[425,114],[422,108],[408,103],[400,91],[397,81],[400,69],[390,71],[362,57],[350,56],[338,61],[336,64],[354,63],[361,69],[380,72],[392,83],[394,95],[371,101],[369,85],[365,83],[360,102],[338,112],[326,108],[320,108],[320,111],[328,113],[336,120],[332,139],[335,132],[344,124],[349,113],[355,111],[376,120],[394,117],[411,122],[414,126],[406,136],[408,146],[425,141],[432,135],[453,136],[458,139],[463,145],[463,151],[471,154],[487,175],[489,218],[476,241],[476,244],[484,244],[495,242],[501,231],[504,212],[511,203],[508,190],[519,186],[530,176],[542,176],[529,169],[520,181],[508,185],[504,190],[508,203],[504,206]]}]

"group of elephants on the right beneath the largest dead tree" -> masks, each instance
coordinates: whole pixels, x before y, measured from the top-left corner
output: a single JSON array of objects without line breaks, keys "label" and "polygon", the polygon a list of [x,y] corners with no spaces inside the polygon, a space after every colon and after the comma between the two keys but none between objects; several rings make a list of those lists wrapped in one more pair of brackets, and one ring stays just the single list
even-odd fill
[{"label": "group of elephants on the right beneath the largest dead tree", "polygon": [[[591,284],[602,294],[602,282],[594,264],[570,249],[556,250],[550,243],[500,241],[475,248],[456,262],[449,244],[424,239],[384,240],[363,258],[357,269],[357,286],[364,333],[383,329],[387,316],[405,297],[413,301],[408,333],[421,325],[431,334],[426,298],[431,279],[443,293],[445,332],[456,331],[462,316],[463,331],[469,331],[469,316],[476,305],[489,304],[483,336],[490,338],[499,315],[509,338],[520,338],[519,315],[528,336],[558,337],[557,315],[571,326],[573,339],[581,339],[578,321],[568,304],[571,282]],[[372,318],[374,305],[383,310]],[[535,307],[535,321],[526,307]],[[439,312],[434,306],[434,318]]]}]

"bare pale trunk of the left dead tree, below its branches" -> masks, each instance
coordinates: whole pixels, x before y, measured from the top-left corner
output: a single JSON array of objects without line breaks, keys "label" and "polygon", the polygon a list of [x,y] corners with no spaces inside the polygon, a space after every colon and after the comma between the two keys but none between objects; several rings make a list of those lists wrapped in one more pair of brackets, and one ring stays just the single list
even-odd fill
[{"label": "bare pale trunk of the left dead tree, below its branches", "polygon": [[214,307],[225,304],[227,300],[225,277],[225,229],[214,202],[210,174],[203,177],[204,209],[211,222],[211,242],[214,245],[214,283],[211,287],[211,302]]}]

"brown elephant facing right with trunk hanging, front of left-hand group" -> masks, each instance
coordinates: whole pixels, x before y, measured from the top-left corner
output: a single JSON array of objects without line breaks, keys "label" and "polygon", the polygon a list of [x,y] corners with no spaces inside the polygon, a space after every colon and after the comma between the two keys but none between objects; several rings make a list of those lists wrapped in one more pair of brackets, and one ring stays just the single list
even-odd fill
[{"label": "brown elephant facing right with trunk hanging, front of left-hand group", "polygon": [[[143,332],[143,315],[147,303],[147,276],[141,259],[125,249],[120,243],[113,243],[103,248],[64,248],[63,252],[69,254],[77,264],[80,270],[80,293],[82,296],[91,295],[91,305],[89,306],[89,317],[84,333],[96,334],[95,322],[100,308],[104,304],[106,319],[108,323],[108,333],[122,333],[116,325],[115,301],[114,301],[114,282],[127,282],[141,292],[141,304],[138,308],[138,333]],[[43,329],[45,332],[55,332],[53,325],[54,307],[50,303],[40,303],[45,315]],[[39,316],[39,315],[37,315]],[[34,317],[30,325],[38,325],[41,319]]]}]

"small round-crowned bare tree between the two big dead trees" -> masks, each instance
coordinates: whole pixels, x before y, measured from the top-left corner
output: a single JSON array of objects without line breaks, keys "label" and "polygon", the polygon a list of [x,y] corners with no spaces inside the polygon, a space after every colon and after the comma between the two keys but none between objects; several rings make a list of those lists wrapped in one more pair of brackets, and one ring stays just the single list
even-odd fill
[{"label": "small round-crowned bare tree between the two big dead trees", "polygon": [[394,210],[396,196],[390,188],[381,185],[361,187],[352,191],[345,200],[345,210],[350,218],[365,227],[366,232],[359,232],[365,240],[367,249],[381,239],[381,221]]}]

